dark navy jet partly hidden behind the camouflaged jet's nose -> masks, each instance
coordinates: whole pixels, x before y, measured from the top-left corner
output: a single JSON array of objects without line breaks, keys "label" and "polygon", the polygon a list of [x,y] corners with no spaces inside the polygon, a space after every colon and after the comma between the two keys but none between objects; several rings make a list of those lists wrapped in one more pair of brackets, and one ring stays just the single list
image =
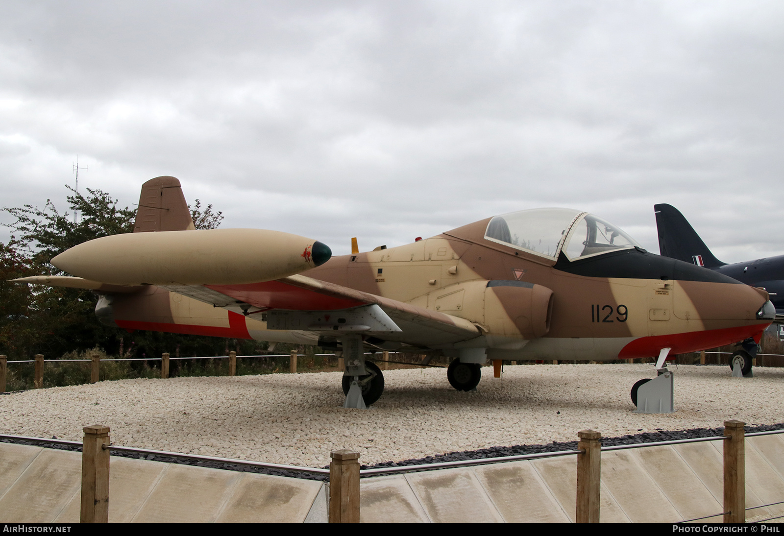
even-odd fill
[{"label": "dark navy jet partly hidden behind the camouflaged jet's nose", "polygon": [[[776,321],[784,321],[784,255],[765,257],[743,263],[722,263],[706,246],[699,234],[681,212],[666,203],[654,205],[656,227],[659,231],[659,252],[671,257],[704,266],[752,287],[764,288],[776,309]],[[746,339],[742,349],[733,353],[730,367],[740,364],[744,375],[751,371],[752,358],[757,355],[757,342]]]}]

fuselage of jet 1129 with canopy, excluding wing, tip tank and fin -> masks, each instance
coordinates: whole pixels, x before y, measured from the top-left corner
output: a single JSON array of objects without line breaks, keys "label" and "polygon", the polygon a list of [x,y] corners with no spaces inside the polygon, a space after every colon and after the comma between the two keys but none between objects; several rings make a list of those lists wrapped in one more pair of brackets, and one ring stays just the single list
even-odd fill
[{"label": "fuselage of jet 1129 with canopy, excluding wing, tip tank and fin", "polygon": [[[555,231],[520,236],[540,221]],[[396,248],[333,257],[303,275],[475,327],[474,335],[459,341],[407,338],[406,331],[365,339],[378,348],[419,353],[456,356],[473,348],[485,349],[489,359],[651,357],[662,348],[686,353],[758,339],[770,324],[766,292],[635,244],[585,212],[541,209]],[[235,313],[162,288],[102,301],[96,307],[102,321],[126,329],[330,342],[324,333],[267,330],[263,314]]]}]

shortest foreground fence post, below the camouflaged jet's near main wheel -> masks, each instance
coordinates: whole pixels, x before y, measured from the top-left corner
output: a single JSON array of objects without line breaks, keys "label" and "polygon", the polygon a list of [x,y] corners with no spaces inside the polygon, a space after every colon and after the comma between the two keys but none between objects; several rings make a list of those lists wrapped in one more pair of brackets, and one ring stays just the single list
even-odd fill
[{"label": "shortest foreground fence post, below the camouflaged jet's near main wheel", "polygon": [[330,453],[329,523],[359,523],[359,453]]}]

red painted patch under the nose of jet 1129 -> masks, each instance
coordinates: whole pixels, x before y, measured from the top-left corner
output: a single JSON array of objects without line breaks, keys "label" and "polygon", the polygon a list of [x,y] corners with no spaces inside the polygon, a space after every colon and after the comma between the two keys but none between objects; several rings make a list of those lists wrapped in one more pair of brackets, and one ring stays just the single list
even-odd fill
[{"label": "red painted patch under the nose of jet 1129", "polygon": [[659,350],[667,347],[672,348],[670,355],[698,352],[706,348],[716,348],[717,346],[739,342],[749,337],[759,339],[768,325],[770,324],[641,337],[624,346],[618,353],[618,357],[619,359],[633,359],[636,357],[657,356],[659,355]]}]

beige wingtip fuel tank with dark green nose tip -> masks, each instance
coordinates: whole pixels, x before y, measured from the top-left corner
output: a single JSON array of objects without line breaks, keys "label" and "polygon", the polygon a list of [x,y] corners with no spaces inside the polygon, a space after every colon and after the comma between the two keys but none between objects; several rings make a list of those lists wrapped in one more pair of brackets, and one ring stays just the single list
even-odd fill
[{"label": "beige wingtip fuel tank with dark green nose tip", "polygon": [[116,234],[78,244],[52,264],[109,284],[243,284],[272,281],[320,266],[325,244],[262,229]]}]

